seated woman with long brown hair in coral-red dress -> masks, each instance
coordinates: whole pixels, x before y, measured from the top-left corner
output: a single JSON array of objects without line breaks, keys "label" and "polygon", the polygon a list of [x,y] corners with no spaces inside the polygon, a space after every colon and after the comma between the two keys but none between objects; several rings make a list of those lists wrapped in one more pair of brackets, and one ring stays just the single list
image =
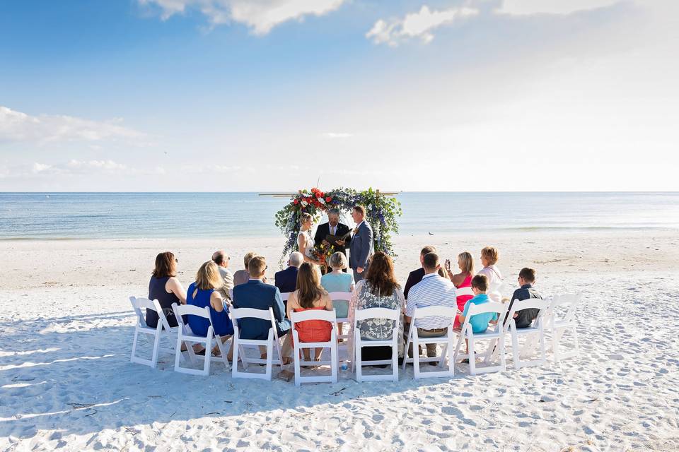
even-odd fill
[{"label": "seated woman with long brown hair in coral-red dress", "polygon": [[[342,254],[342,253],[339,253]],[[320,285],[320,270],[313,263],[301,264],[297,274],[297,290],[288,299],[288,319],[293,312],[309,309],[332,311],[332,299]],[[301,342],[328,342],[332,333],[332,323],[323,320],[307,320],[295,323],[295,330]],[[311,349],[303,348],[304,359],[309,361]],[[320,361],[322,347],[316,348],[314,361]]]}]

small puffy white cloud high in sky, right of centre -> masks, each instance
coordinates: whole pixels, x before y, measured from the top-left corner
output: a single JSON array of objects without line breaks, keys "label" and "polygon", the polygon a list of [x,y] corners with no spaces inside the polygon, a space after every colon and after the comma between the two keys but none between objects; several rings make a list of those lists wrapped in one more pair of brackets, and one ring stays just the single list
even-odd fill
[{"label": "small puffy white cloud high in sky, right of centre", "polygon": [[435,28],[476,16],[478,13],[476,8],[466,6],[436,11],[424,5],[417,13],[408,13],[402,19],[378,20],[366,33],[366,37],[376,44],[388,44],[392,47],[415,37],[425,43],[431,42],[434,39],[431,31]]}]

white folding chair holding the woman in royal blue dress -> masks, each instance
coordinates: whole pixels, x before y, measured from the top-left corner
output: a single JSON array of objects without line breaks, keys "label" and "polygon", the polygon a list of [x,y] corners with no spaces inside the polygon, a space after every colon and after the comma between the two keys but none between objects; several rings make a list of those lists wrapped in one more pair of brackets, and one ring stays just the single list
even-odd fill
[{"label": "white folding chair holding the woman in royal blue dress", "polygon": [[[172,310],[177,318],[177,323],[179,325],[177,334],[177,347],[175,349],[175,371],[181,374],[192,374],[192,375],[209,375],[210,374],[210,362],[221,361],[228,371],[228,359],[226,358],[226,347],[221,340],[219,334],[214,333],[214,326],[212,325],[212,319],[210,317],[210,308],[204,307],[199,308],[193,306],[192,304],[172,304]],[[207,327],[207,334],[205,337],[195,335],[190,328],[184,323],[182,316],[191,315],[199,316],[210,321],[210,326]],[[216,342],[219,348],[219,357],[212,356],[213,340]],[[193,351],[193,344],[203,344],[205,347],[205,356],[203,358],[203,368],[202,369],[192,369],[190,367],[181,367],[179,365],[180,359],[182,357],[182,343],[186,343],[186,350],[191,358],[191,362],[196,362],[197,355]]]}]

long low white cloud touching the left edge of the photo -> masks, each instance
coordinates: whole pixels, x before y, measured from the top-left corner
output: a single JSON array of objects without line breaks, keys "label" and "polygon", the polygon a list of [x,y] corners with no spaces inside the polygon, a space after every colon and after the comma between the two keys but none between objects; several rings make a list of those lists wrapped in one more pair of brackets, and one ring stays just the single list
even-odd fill
[{"label": "long low white cloud touching the left edge of the photo", "polygon": [[122,126],[121,119],[92,121],[64,115],[31,116],[0,105],[0,142],[135,140],[144,133]]}]

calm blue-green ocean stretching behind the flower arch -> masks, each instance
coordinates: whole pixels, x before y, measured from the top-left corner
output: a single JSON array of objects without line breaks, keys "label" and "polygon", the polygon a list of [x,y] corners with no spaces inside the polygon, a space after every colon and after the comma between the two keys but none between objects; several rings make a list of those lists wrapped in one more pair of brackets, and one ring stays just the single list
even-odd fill
[{"label": "calm blue-green ocean stretching behind the flower arch", "polygon": [[[679,192],[405,192],[396,198],[400,234],[679,229]],[[257,193],[0,193],[0,239],[280,237],[274,213],[288,202]]]}]

